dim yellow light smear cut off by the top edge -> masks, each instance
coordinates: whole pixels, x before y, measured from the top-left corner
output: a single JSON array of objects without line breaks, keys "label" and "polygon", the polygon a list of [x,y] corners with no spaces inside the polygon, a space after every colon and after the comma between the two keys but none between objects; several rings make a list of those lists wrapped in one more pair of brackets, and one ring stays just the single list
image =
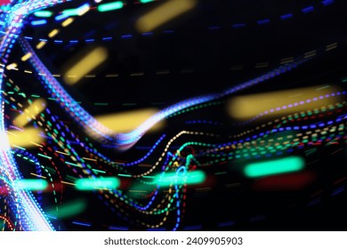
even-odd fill
[{"label": "dim yellow light smear cut off by the top edge", "polygon": [[149,32],[169,20],[191,11],[197,4],[197,0],[170,0],[141,16],[136,22],[136,28],[141,33]]}]

